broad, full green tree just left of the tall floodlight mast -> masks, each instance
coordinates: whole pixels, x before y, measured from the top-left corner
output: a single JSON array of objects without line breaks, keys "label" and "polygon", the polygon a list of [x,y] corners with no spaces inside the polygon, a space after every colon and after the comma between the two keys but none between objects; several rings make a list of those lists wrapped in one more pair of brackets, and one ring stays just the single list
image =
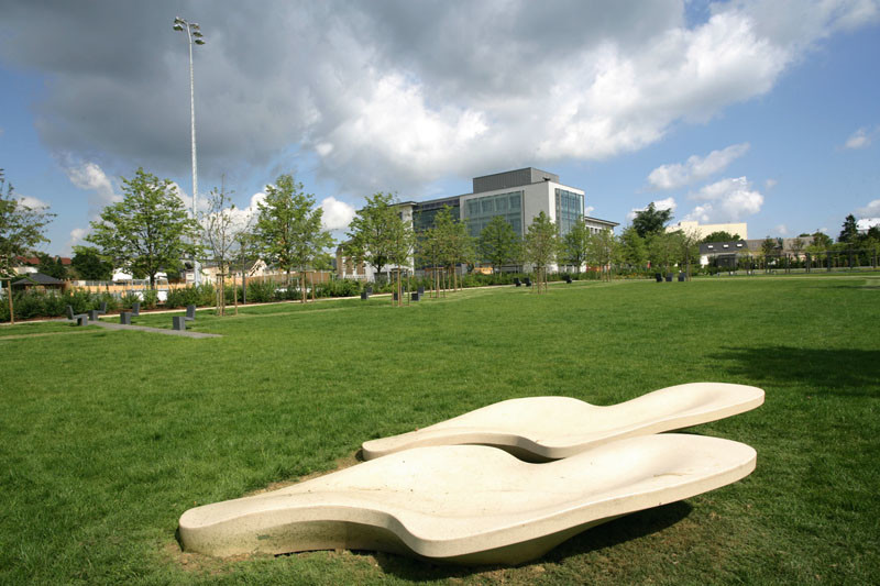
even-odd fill
[{"label": "broad, full green tree just left of the tall floodlight mast", "polygon": [[139,168],[122,178],[122,201],[107,206],[100,221],[90,222],[86,242],[95,244],[101,259],[150,278],[156,286],[160,270],[175,270],[184,258],[201,253],[199,225],[189,218],[170,179],[158,179]]}]

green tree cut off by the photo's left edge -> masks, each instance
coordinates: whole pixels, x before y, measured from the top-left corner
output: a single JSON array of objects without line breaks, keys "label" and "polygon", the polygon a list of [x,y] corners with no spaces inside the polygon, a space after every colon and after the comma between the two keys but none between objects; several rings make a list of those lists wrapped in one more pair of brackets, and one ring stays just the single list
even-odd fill
[{"label": "green tree cut off by the photo's left edge", "polygon": [[7,280],[10,323],[15,323],[12,279],[19,257],[30,254],[41,242],[48,242],[43,232],[55,217],[43,208],[25,206],[13,197],[14,192],[12,184],[6,180],[3,169],[0,169],[0,286],[2,280]]}]

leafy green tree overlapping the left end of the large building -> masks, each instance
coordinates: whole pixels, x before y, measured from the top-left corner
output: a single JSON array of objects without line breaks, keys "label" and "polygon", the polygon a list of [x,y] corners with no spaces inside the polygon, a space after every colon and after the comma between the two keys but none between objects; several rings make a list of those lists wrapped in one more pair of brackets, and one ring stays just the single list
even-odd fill
[{"label": "leafy green tree overlapping the left end of the large building", "polygon": [[349,224],[348,236],[351,239],[346,253],[356,262],[366,263],[378,274],[386,266],[392,255],[393,232],[400,215],[394,208],[392,194],[377,192],[366,197],[366,206],[358,210]]}]

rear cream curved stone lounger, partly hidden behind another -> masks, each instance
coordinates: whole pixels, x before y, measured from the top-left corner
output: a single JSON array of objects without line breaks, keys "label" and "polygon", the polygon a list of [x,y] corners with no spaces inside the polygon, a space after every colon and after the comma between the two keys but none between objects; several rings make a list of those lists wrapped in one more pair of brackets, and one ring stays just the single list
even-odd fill
[{"label": "rear cream curved stone lounger, partly hidden behind another", "polygon": [[614,439],[706,423],[759,407],[763,390],[726,383],[690,383],[600,407],[570,397],[496,402],[428,428],[364,442],[364,460],[425,445],[481,444],[529,462],[576,454]]}]

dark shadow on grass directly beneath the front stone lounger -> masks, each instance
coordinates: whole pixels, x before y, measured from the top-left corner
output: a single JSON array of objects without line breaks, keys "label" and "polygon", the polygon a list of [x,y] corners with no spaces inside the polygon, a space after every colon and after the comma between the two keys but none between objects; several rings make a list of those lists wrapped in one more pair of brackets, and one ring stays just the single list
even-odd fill
[{"label": "dark shadow on grass directly beneath the front stone lounger", "polygon": [[[691,513],[693,507],[684,501],[672,502],[663,507],[654,507],[644,511],[624,516],[614,521],[587,529],[570,540],[553,548],[541,557],[527,562],[540,564],[544,562],[560,563],[572,555],[581,555],[591,551],[613,548],[634,539],[638,539],[675,524]],[[407,581],[464,578],[473,574],[482,574],[496,570],[506,570],[509,566],[483,565],[459,566],[439,565],[429,561],[414,560],[402,555],[386,553],[358,552],[362,555],[373,555],[376,563],[387,574],[393,574]]]}]

